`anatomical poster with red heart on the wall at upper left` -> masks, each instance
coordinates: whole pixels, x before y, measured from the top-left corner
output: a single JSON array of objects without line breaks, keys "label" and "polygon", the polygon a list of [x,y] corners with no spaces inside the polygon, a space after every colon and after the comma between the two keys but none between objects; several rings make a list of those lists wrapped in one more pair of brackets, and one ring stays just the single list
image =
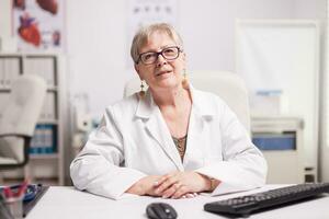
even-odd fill
[{"label": "anatomical poster with red heart on the wall at upper left", "polygon": [[64,0],[13,0],[13,32],[21,51],[63,51]]}]

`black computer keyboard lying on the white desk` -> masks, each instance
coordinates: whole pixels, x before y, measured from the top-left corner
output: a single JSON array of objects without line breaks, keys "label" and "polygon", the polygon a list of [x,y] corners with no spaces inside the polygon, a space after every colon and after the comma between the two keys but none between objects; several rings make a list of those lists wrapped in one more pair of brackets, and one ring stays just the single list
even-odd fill
[{"label": "black computer keyboard lying on the white desk", "polygon": [[288,205],[329,193],[329,183],[298,184],[204,205],[206,211],[248,217],[253,211]]}]

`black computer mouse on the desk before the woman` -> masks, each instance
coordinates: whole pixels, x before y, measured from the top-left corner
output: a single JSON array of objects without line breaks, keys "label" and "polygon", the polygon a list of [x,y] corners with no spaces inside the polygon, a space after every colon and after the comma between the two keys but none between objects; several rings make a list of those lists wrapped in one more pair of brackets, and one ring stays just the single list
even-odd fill
[{"label": "black computer mouse on the desk before the woman", "polygon": [[146,215],[150,219],[175,219],[177,211],[167,203],[151,203],[146,208]]}]

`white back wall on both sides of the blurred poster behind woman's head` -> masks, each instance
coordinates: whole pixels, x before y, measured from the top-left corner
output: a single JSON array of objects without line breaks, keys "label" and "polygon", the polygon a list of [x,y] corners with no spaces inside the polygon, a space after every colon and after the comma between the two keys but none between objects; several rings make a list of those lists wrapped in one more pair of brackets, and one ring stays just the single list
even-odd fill
[{"label": "white back wall on both sides of the blurred poster behind woman's head", "polygon": [[[179,31],[192,70],[234,71],[235,19],[313,19],[325,16],[326,0],[179,1]],[[99,116],[120,100],[134,76],[127,68],[127,1],[67,1],[70,91],[87,92]]]}]

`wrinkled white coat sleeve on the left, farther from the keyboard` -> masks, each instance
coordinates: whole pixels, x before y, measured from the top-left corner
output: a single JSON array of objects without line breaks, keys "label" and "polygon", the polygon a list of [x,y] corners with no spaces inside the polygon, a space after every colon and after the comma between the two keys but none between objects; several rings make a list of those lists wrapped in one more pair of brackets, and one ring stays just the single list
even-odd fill
[{"label": "wrinkled white coat sleeve on the left, farther from the keyboard", "polygon": [[71,162],[73,185],[81,191],[118,199],[144,173],[124,168],[122,134],[111,107],[100,126],[90,134],[88,142]]}]

